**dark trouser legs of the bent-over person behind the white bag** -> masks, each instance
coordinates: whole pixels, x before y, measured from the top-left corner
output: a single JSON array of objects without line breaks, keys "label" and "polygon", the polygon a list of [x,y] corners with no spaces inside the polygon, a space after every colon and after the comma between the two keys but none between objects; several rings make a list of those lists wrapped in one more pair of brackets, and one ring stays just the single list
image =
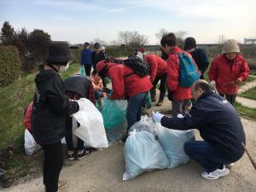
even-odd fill
[{"label": "dark trouser legs of the bent-over person behind the white bag", "polygon": [[[72,132],[72,120],[73,118],[67,116],[66,118],[66,142],[67,150],[73,151],[73,132]],[[78,137],[78,150],[84,149],[84,141]]]}]

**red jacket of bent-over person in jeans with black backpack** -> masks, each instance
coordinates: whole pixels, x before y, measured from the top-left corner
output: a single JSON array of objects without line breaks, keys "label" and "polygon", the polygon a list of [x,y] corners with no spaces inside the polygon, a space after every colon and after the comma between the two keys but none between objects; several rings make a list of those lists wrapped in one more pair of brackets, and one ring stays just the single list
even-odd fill
[{"label": "red jacket of bent-over person in jeans with black backpack", "polygon": [[[151,90],[151,84],[148,76],[143,78],[137,74],[131,74],[133,70],[122,64],[108,63],[108,77],[112,82],[112,98],[123,99],[125,95],[136,96],[138,93],[143,93]],[[128,77],[125,75],[131,74]]]}]

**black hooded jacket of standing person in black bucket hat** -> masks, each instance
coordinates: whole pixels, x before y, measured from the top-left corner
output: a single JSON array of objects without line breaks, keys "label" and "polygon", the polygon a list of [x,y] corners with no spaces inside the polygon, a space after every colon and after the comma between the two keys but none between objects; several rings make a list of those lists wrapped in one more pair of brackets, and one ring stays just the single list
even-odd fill
[{"label": "black hooded jacket of standing person in black bucket hat", "polygon": [[57,143],[65,136],[66,116],[79,111],[79,104],[69,101],[59,74],[53,70],[41,70],[35,83],[32,135],[41,145]]}]

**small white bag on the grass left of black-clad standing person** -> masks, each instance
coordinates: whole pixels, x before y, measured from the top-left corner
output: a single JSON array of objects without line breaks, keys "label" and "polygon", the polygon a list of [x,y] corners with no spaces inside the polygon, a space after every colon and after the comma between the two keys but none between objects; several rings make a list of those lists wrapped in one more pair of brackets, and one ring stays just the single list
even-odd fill
[{"label": "small white bag on the grass left of black-clad standing person", "polygon": [[34,137],[27,129],[25,130],[24,141],[25,152],[28,155],[36,153],[41,148],[41,146],[35,142]]}]

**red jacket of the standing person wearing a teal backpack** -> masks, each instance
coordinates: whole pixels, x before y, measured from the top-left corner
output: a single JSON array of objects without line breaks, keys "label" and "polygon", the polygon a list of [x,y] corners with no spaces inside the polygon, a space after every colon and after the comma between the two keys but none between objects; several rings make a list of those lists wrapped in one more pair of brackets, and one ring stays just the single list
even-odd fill
[{"label": "red jacket of the standing person wearing a teal backpack", "polygon": [[[182,101],[185,99],[190,99],[191,96],[191,89],[188,87],[181,87],[179,85],[179,61],[178,61],[178,55],[182,53],[183,50],[179,47],[175,47],[170,51],[168,60],[167,60],[167,79],[166,84],[168,87],[168,90],[172,91],[172,97],[173,100]],[[184,51],[187,55],[191,57],[192,56]],[[193,60],[194,61],[194,60]],[[194,61],[195,64],[195,61]],[[195,64],[196,66],[196,64]],[[197,66],[196,66],[197,67]]]}]

